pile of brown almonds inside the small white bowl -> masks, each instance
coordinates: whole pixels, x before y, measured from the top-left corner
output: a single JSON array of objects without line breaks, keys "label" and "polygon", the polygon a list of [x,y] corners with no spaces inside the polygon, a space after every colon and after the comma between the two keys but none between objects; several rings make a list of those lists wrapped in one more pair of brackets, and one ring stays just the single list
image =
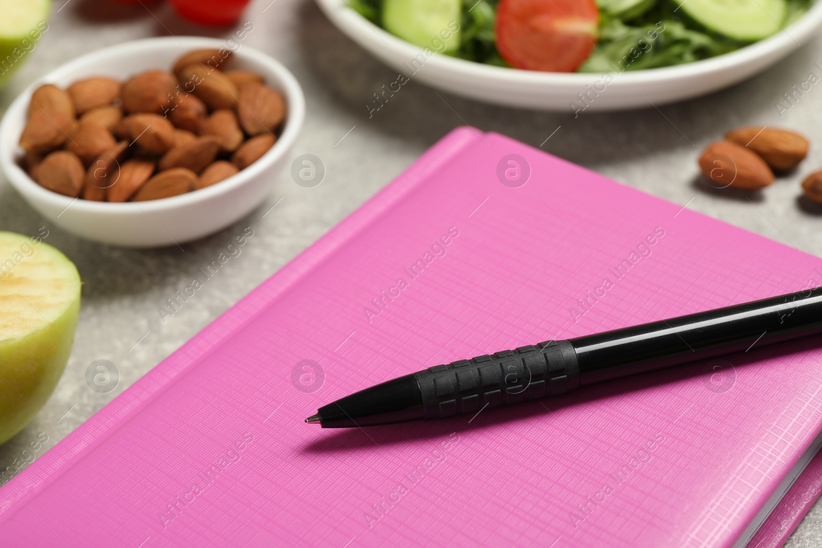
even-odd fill
[{"label": "pile of brown almonds inside the small white bowl", "polygon": [[[252,71],[224,71],[231,53],[198,49],[120,82],[92,76],[31,95],[21,165],[72,198],[159,200],[210,187],[274,146],[279,92]],[[224,50],[222,50],[224,54]]]}]

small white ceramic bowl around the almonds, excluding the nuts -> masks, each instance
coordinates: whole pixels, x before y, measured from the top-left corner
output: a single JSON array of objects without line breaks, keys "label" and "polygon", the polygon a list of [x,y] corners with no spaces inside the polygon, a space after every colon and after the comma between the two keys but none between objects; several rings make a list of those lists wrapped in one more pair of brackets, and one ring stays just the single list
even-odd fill
[{"label": "small white ceramic bowl around the almonds, excluding the nuts", "polygon": [[215,233],[241,219],[266,199],[274,175],[289,159],[305,117],[305,99],[297,80],[265,53],[239,43],[232,68],[256,71],[283,94],[287,113],[279,140],[266,154],[211,187],[163,200],[110,204],[78,200],[40,187],[17,164],[18,146],[32,92],[42,84],[66,87],[86,76],[124,80],[151,68],[170,70],[182,53],[197,48],[226,47],[224,40],[194,36],[150,38],[88,53],[30,85],[0,123],[0,167],[23,199],[46,219],[77,236],[115,246],[173,246]]}]

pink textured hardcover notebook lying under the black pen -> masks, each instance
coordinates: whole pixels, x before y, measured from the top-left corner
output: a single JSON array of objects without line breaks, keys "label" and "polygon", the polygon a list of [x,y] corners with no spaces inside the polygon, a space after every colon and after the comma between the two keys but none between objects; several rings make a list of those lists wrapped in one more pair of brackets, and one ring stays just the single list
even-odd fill
[{"label": "pink textured hardcover notebook lying under the black pen", "polygon": [[0,546],[729,547],[762,522],[749,546],[781,546],[819,494],[818,460],[792,486],[822,429],[811,341],[474,417],[303,419],[438,363],[798,291],[817,268],[457,129],[3,487]]}]

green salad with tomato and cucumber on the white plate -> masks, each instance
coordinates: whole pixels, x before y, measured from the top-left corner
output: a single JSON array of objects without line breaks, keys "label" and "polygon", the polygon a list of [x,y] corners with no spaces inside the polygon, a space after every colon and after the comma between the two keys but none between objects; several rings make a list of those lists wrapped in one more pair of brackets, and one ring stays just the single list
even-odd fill
[{"label": "green salad with tomato and cucumber on the white plate", "polygon": [[711,58],[773,35],[813,0],[348,0],[423,48],[501,67],[613,72]]}]

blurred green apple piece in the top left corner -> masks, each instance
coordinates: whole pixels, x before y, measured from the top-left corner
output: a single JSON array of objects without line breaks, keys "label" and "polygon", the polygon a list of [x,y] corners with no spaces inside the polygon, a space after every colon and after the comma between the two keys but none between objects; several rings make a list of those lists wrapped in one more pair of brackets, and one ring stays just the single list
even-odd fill
[{"label": "blurred green apple piece in the top left corner", "polygon": [[51,0],[0,0],[0,86],[35,48],[50,11]]}]

